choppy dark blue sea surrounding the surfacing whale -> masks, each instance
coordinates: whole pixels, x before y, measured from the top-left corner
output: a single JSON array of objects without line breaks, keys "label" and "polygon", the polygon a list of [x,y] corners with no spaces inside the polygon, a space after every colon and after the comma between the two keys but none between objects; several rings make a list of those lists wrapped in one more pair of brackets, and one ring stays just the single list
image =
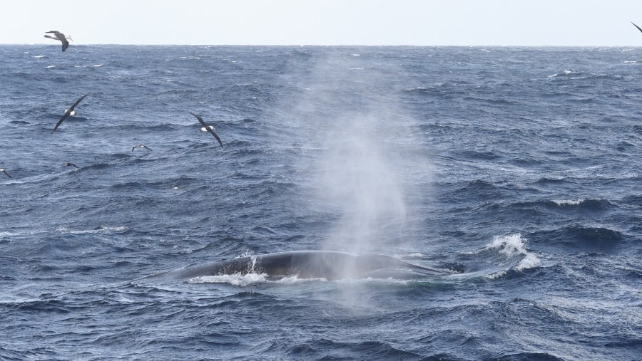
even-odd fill
[{"label": "choppy dark blue sea surrounding the surfacing whale", "polygon": [[[0,85],[2,360],[641,355],[642,48],[0,46]],[[305,249],[459,273],[146,278]]]}]

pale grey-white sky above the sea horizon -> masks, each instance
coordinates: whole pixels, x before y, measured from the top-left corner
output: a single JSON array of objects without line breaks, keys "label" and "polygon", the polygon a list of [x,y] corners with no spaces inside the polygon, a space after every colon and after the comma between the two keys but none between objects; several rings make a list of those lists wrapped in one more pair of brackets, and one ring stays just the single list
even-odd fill
[{"label": "pale grey-white sky above the sea horizon", "polygon": [[642,46],[641,0],[9,0],[0,43]]}]

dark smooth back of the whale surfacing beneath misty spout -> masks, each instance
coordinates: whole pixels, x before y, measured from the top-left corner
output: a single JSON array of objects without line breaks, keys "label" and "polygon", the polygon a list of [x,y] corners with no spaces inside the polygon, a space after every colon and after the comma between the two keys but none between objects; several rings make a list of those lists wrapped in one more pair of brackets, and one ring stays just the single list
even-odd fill
[{"label": "dark smooth back of the whale surfacing beneath misty spout", "polygon": [[[416,266],[397,258],[379,254],[355,255],[337,251],[287,251],[258,256],[233,258],[227,261],[188,267],[169,274],[190,279],[203,276],[223,276],[248,273],[267,274],[271,279],[297,276],[299,278],[421,278],[451,274],[433,268]],[[166,274],[166,273],[163,273]]]}]

